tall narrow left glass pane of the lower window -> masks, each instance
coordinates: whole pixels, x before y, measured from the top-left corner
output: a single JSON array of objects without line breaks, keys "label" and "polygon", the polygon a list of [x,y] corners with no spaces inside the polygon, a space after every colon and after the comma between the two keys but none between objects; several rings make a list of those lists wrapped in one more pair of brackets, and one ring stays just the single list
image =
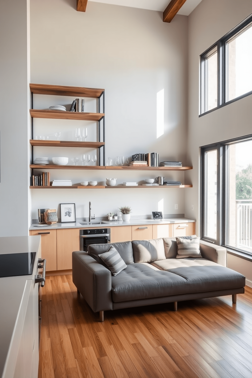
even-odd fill
[{"label": "tall narrow left glass pane of the lower window", "polygon": [[217,150],[205,153],[205,235],[217,237]]}]

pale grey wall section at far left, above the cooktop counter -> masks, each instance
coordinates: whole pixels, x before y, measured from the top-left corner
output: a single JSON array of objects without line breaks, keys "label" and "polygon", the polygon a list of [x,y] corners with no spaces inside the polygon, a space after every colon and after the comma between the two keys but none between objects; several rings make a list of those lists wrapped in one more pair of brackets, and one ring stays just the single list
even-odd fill
[{"label": "pale grey wall section at far left, above the cooktop counter", "polygon": [[29,0],[0,1],[0,236],[30,224]]}]

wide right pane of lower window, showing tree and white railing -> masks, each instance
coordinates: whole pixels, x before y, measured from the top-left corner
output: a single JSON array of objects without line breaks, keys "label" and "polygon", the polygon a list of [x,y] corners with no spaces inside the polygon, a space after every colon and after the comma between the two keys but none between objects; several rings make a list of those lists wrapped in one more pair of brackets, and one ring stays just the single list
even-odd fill
[{"label": "wide right pane of lower window, showing tree and white railing", "polygon": [[252,253],[252,141],[228,147],[226,244]]}]

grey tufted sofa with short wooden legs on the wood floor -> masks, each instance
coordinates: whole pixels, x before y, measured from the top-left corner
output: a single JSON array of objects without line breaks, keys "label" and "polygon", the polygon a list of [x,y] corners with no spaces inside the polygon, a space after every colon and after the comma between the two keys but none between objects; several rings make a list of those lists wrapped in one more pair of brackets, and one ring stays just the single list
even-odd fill
[{"label": "grey tufted sofa with short wooden legs on the wood floor", "polygon": [[[99,254],[114,246],[127,267],[116,276]],[[73,252],[73,283],[94,312],[244,293],[245,277],[226,267],[226,248],[200,241],[200,258],[177,258],[175,238],[93,244]]]}]

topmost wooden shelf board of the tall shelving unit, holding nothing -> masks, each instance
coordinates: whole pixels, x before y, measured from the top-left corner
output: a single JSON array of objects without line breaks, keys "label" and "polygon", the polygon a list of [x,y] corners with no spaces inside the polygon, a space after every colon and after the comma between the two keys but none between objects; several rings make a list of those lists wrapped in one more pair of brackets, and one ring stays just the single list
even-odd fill
[{"label": "topmost wooden shelf board of the tall shelving unit, holding nothing", "polygon": [[99,98],[104,89],[67,87],[64,85],[30,84],[30,90],[34,95],[76,96]]}]

